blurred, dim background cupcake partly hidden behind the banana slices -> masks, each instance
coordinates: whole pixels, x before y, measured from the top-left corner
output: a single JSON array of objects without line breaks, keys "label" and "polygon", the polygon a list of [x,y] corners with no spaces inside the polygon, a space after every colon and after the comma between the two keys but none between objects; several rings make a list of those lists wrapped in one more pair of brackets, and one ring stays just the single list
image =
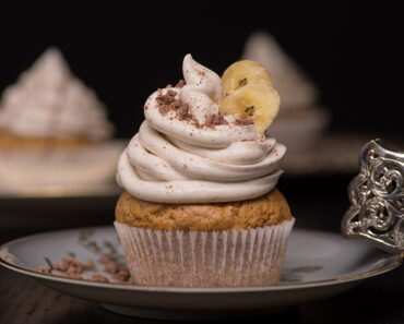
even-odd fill
[{"label": "blurred, dim background cupcake partly hidden behind the banana slices", "polygon": [[257,32],[247,39],[242,55],[271,71],[281,100],[280,115],[269,135],[284,143],[289,153],[312,147],[329,123],[329,113],[319,106],[319,91],[301,69],[268,33]]}]

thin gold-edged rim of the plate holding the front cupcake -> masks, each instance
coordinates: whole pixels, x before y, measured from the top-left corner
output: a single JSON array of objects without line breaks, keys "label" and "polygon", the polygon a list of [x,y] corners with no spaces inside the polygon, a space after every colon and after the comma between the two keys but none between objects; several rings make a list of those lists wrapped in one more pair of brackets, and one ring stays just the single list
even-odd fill
[{"label": "thin gold-edged rim of the plate holding the front cupcake", "polygon": [[[123,290],[143,291],[143,292],[169,292],[169,293],[173,293],[173,292],[177,292],[177,293],[212,293],[212,292],[213,293],[228,293],[228,292],[242,293],[242,292],[256,292],[256,291],[280,291],[280,290],[306,289],[306,288],[324,287],[324,286],[330,286],[330,285],[338,285],[338,284],[345,284],[345,283],[350,283],[350,281],[357,281],[357,280],[370,278],[370,277],[387,273],[389,271],[392,271],[395,267],[400,266],[404,259],[404,252],[403,252],[401,254],[392,255],[391,263],[380,266],[376,269],[364,272],[360,274],[355,274],[355,275],[341,276],[341,277],[326,279],[326,280],[318,280],[318,281],[314,280],[314,281],[306,281],[306,283],[298,283],[298,284],[278,284],[275,286],[266,286],[266,287],[182,288],[182,287],[146,287],[146,286],[135,286],[135,285],[119,285],[119,284],[112,284],[112,283],[97,283],[97,281],[91,281],[91,280],[62,278],[60,276],[43,274],[43,273],[35,272],[33,269],[28,269],[28,268],[12,264],[9,261],[4,260],[2,256],[2,255],[8,255],[9,247],[11,247],[12,244],[19,243],[19,242],[26,241],[26,240],[36,239],[36,238],[40,238],[40,237],[48,236],[48,235],[55,235],[56,232],[85,230],[90,228],[102,229],[102,228],[110,228],[110,227],[111,226],[94,226],[94,227],[85,227],[85,228],[63,229],[63,230],[35,233],[35,235],[22,237],[15,240],[11,240],[0,245],[0,264],[11,271],[25,274],[32,277],[36,277],[39,279],[59,281],[59,283],[72,284],[72,285],[80,285],[80,286],[91,286],[91,287],[96,287],[96,288],[123,289]],[[312,232],[325,232],[325,231],[310,230],[310,229],[304,229],[304,230],[312,231]]]}]

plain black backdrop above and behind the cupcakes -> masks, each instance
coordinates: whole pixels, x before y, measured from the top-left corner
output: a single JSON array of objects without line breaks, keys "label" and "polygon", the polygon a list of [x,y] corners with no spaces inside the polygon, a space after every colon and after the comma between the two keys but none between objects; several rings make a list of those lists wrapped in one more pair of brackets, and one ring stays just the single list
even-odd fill
[{"label": "plain black backdrop above and behind the cupcakes", "polygon": [[0,92],[48,46],[58,46],[108,105],[117,136],[130,137],[146,97],[181,77],[187,52],[221,74],[239,59],[246,37],[263,29],[318,84],[332,109],[332,128],[403,137],[402,14],[391,3],[368,2],[353,8],[341,1],[169,1],[124,8],[2,1]]}]

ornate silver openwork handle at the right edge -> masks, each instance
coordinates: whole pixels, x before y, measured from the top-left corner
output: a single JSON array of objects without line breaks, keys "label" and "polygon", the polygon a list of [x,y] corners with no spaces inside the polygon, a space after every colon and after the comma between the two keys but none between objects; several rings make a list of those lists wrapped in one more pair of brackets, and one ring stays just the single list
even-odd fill
[{"label": "ornate silver openwork handle at the right edge", "polygon": [[360,172],[349,183],[350,207],[342,220],[346,238],[359,238],[392,253],[404,251],[404,154],[379,140],[360,153]]}]

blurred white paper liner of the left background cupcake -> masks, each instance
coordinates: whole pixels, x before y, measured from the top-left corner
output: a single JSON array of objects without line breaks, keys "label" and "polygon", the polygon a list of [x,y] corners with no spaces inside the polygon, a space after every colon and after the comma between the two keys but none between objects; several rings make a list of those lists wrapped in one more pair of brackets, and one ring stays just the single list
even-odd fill
[{"label": "blurred white paper liner of the left background cupcake", "polygon": [[5,190],[112,182],[123,146],[124,143],[112,141],[74,149],[0,149],[0,188]]}]

